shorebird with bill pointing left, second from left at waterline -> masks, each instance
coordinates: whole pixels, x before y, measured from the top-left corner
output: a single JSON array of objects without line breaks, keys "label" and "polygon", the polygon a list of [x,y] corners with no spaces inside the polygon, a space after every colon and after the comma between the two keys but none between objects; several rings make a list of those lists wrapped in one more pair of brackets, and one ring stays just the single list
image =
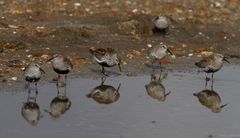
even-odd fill
[{"label": "shorebird with bill pointing left, second from left at waterline", "polygon": [[48,59],[47,62],[51,60],[53,60],[52,61],[53,70],[58,74],[58,81],[61,78],[61,74],[63,74],[65,76],[66,83],[67,78],[66,74],[68,74],[73,68],[71,61],[68,58],[58,54],[53,55],[53,57]]}]

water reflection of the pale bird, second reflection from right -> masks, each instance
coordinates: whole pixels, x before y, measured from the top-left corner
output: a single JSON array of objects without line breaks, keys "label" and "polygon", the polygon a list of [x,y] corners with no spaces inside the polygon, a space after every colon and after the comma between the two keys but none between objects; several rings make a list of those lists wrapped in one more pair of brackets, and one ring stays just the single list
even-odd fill
[{"label": "water reflection of the pale bird, second reflection from right", "polygon": [[167,73],[153,73],[151,74],[151,81],[145,85],[147,94],[158,101],[165,101],[166,97],[171,93],[165,93],[165,87],[162,84],[162,80],[167,77]]}]

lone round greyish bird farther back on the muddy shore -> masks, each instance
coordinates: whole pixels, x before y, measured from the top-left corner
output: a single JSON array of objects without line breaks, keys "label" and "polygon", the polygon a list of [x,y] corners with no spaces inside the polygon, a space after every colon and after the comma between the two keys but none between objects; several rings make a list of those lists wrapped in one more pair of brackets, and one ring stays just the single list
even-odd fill
[{"label": "lone round greyish bird farther back on the muddy shore", "polygon": [[155,29],[158,31],[166,32],[170,26],[170,19],[165,15],[158,15],[152,19]]}]

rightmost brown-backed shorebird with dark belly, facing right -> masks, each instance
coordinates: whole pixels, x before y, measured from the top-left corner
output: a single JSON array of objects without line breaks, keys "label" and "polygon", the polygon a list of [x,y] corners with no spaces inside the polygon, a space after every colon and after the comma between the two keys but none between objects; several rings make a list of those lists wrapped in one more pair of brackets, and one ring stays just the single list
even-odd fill
[{"label": "rightmost brown-backed shorebird with dark belly, facing right", "polygon": [[213,74],[222,68],[223,60],[230,63],[224,55],[214,53],[208,57],[204,57],[199,62],[196,62],[195,65],[206,72],[206,81],[209,81],[210,79],[207,77],[208,74],[212,73],[213,79]]}]

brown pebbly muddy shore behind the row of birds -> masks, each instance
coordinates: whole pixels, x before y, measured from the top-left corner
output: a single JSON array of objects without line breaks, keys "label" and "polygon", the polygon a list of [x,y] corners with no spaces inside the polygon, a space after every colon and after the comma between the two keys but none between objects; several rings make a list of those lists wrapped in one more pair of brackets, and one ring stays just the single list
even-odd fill
[{"label": "brown pebbly muddy shore behind the row of birds", "polygon": [[[165,35],[153,32],[151,19],[171,19]],[[123,60],[122,75],[148,74],[148,46],[164,42],[176,55],[162,61],[169,70],[195,71],[194,62],[220,52],[240,63],[239,0],[0,0],[0,81],[22,84],[24,67],[39,63],[51,81],[46,60],[55,53],[74,64],[71,77],[95,77],[100,67],[89,47],[112,47]],[[109,70],[118,72],[117,68]]]}]

